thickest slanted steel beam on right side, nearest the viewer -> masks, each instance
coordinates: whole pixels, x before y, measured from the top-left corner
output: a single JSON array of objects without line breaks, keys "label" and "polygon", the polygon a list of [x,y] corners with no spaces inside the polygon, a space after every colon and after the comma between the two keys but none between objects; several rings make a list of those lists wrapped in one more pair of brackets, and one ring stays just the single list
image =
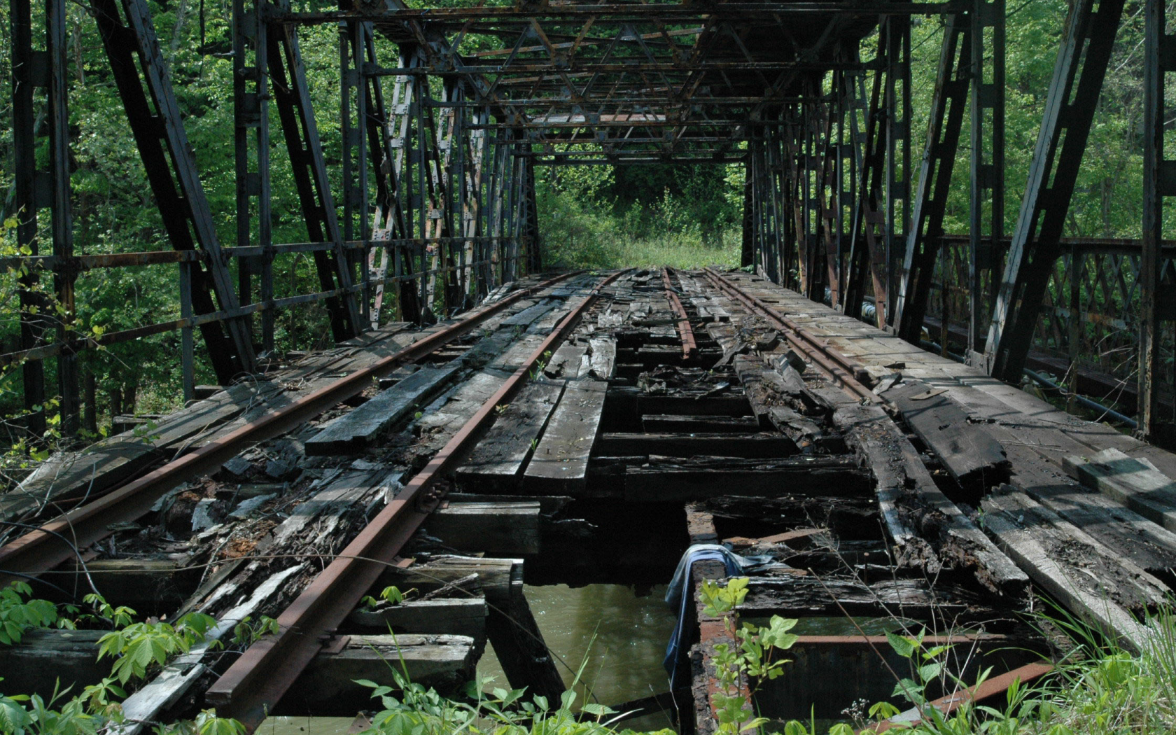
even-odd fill
[{"label": "thickest slanted steel beam on right side, nearest the viewer", "polygon": [[1058,240],[1122,14],[1123,0],[1076,0],[1067,19],[984,346],[985,367],[1005,381],[1021,381],[1037,313],[1061,255]]}]

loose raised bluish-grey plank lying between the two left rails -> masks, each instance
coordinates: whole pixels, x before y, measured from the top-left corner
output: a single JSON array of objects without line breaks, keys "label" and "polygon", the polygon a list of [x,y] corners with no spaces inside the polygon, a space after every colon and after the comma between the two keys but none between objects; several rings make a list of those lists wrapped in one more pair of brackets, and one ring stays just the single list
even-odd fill
[{"label": "loose raised bluish-grey plank lying between the two left rails", "polygon": [[330,421],[306,442],[308,455],[329,456],[363,449],[426,403],[454,377],[460,360],[445,367],[422,367],[362,406]]}]

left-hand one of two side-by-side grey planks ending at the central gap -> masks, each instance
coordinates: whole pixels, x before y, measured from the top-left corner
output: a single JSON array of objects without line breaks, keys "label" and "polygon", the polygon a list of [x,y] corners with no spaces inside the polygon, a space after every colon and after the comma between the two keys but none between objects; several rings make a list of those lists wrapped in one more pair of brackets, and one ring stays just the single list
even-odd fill
[{"label": "left-hand one of two side-by-side grey planks ending at the central gap", "polygon": [[563,394],[563,381],[536,381],[494,419],[469,459],[457,468],[463,490],[513,490]]}]

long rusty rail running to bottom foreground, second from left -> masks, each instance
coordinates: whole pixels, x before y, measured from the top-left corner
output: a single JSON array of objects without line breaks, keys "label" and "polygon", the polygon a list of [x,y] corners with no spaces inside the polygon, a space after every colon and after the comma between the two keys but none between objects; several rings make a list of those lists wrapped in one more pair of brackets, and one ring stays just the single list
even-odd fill
[{"label": "long rusty rail running to bottom foreground, second from left", "polygon": [[322,647],[322,636],[333,632],[375,583],[387,561],[396,556],[443,492],[434,482],[454,468],[494,416],[494,409],[509,401],[523,386],[527,374],[543,353],[563,341],[600,292],[623,270],[608,276],[582,303],[574,308],[535,348],[535,352],[501,388],[482,403],[477,413],[417,473],[359,536],[318,576],[278,617],[280,632],[245,652],[208,689],[207,699],[218,715],[242,722],[250,731],[282,697]]}]

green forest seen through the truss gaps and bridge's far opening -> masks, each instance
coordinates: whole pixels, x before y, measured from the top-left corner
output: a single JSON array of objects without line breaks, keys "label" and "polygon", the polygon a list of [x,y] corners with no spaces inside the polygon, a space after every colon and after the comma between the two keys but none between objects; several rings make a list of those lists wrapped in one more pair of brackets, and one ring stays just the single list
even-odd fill
[{"label": "green forest seen through the truss gaps and bridge's far opening", "polygon": [[[461,1],[461,0],[453,0]],[[155,28],[172,67],[179,103],[220,239],[234,242],[233,103],[230,4],[227,0],[151,0]],[[298,4],[306,6],[306,4]],[[1098,105],[1090,145],[1071,207],[1068,235],[1138,236],[1142,175],[1142,1],[1128,4],[1124,27]],[[326,4],[323,4],[326,7]],[[1053,72],[1065,0],[1010,2],[1008,22],[1008,206],[1011,230]],[[11,58],[7,7],[0,7],[0,195],[12,182]],[[73,155],[75,249],[81,253],[169,249],[160,213],[126,123],[108,64],[85,0],[68,5],[71,44],[71,148]],[[942,38],[941,19],[917,18],[914,29],[913,156],[922,152],[926,111],[934,87]],[[488,39],[467,42],[488,44]],[[869,55],[873,39],[863,44]],[[339,175],[339,85],[336,29],[303,29],[307,64],[328,163]],[[386,53],[393,53],[386,47]],[[290,171],[272,135],[274,242],[307,239]],[[44,143],[44,139],[42,139]],[[965,232],[967,140],[961,146],[948,232]],[[612,267],[711,262],[737,265],[742,216],[741,166],[608,167],[537,169],[540,223],[548,265]],[[336,189],[338,191],[338,189]],[[7,207],[0,255],[16,254]],[[274,263],[278,298],[318,290],[305,255]],[[49,281],[44,276],[44,281]],[[179,316],[175,266],[91,270],[78,281],[81,330],[112,332]],[[0,275],[0,352],[18,348],[15,274]],[[280,349],[326,346],[320,305],[281,312]],[[165,412],[178,405],[179,335],[169,334],[81,356],[98,386],[99,426],[120,413]],[[199,353],[199,348],[198,348]],[[52,362],[46,363],[53,382]],[[211,382],[201,363],[198,382]],[[19,367],[0,373],[0,415],[21,410]]]}]

